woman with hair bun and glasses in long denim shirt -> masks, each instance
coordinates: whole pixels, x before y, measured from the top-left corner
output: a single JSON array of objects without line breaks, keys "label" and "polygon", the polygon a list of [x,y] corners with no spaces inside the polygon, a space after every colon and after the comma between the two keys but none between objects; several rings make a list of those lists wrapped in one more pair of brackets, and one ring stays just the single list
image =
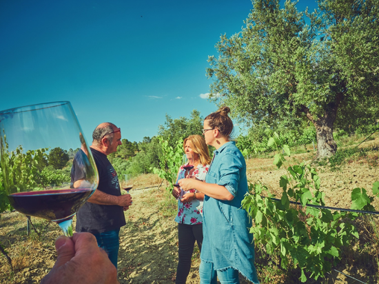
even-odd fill
[{"label": "woman with hair bun and glasses in long denim shirt", "polygon": [[240,150],[230,141],[230,109],[223,107],[205,117],[205,143],[214,146],[214,156],[205,183],[196,179],[178,181],[187,191],[205,194],[203,203],[203,247],[199,274],[201,284],[238,284],[238,272],[259,283],[254,267],[253,235],[249,234],[247,212],[241,201],[247,193],[246,164]]}]

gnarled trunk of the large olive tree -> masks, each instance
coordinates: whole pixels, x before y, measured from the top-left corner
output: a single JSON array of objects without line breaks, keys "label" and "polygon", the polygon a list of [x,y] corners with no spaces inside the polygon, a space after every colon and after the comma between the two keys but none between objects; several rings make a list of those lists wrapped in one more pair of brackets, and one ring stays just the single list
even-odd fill
[{"label": "gnarled trunk of the large olive tree", "polygon": [[334,113],[325,113],[323,117],[314,121],[317,134],[317,159],[333,156],[337,150],[337,144],[333,138],[333,124],[336,120]]}]

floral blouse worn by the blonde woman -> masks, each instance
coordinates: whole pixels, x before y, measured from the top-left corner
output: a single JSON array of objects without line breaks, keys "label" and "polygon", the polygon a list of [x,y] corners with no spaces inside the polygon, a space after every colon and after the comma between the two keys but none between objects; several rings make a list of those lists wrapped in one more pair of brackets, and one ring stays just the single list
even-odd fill
[{"label": "floral blouse worn by the blonde woman", "polygon": [[[209,165],[199,164],[197,168],[192,173],[197,179],[201,181],[205,180],[205,175],[207,174]],[[183,165],[179,169],[178,179],[185,179],[185,170]],[[198,192],[197,190],[189,190],[188,192]],[[181,189],[181,196],[185,194],[184,190]],[[178,214],[175,217],[176,223],[183,223],[188,225],[196,225],[203,223],[203,201],[194,199],[191,202],[183,203],[181,202],[181,197],[178,199]]]}]

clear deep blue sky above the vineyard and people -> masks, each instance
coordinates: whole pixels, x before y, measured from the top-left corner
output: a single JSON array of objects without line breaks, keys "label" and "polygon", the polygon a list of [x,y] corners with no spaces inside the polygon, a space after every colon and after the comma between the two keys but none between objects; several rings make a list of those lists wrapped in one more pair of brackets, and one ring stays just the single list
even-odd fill
[{"label": "clear deep blue sky above the vineyard and people", "polygon": [[165,114],[206,116],[217,109],[205,95],[207,57],[250,9],[250,0],[1,1],[0,110],[70,101],[89,142],[104,121],[142,141]]}]

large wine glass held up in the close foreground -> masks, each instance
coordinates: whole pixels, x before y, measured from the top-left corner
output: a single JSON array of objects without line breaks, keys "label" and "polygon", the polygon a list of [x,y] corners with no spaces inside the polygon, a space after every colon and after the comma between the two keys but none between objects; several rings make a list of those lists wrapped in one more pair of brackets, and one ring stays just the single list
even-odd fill
[{"label": "large wine glass held up in the close foreground", "polygon": [[0,132],[10,204],[27,216],[57,222],[72,236],[72,217],[96,190],[99,176],[71,103],[3,110]]}]

